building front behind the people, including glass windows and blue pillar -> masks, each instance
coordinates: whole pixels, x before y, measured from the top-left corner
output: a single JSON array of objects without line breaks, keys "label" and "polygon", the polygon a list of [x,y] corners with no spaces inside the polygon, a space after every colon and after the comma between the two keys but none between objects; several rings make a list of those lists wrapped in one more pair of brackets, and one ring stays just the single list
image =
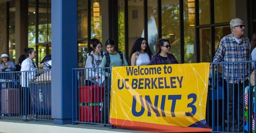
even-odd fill
[{"label": "building front behind the people, including glass windows and blue pillar", "polygon": [[25,47],[36,62],[52,54],[52,118],[72,123],[72,68],[84,67],[89,41],[112,38],[129,59],[145,37],[155,53],[159,38],[171,41],[179,63],[211,62],[229,21],[241,18],[245,36],[256,32],[253,0],[15,0],[0,1],[0,52],[17,63]]}]

